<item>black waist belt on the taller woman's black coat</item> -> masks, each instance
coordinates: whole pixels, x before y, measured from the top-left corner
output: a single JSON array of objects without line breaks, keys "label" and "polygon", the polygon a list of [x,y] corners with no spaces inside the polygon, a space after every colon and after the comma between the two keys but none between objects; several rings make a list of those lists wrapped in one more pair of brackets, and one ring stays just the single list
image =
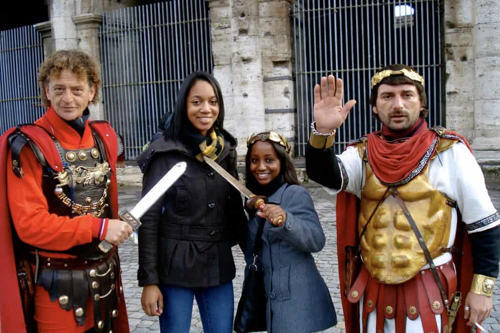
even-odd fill
[{"label": "black waist belt on the taller woman's black coat", "polygon": [[222,226],[185,226],[164,223],[161,225],[161,236],[186,241],[220,241],[225,237]]}]

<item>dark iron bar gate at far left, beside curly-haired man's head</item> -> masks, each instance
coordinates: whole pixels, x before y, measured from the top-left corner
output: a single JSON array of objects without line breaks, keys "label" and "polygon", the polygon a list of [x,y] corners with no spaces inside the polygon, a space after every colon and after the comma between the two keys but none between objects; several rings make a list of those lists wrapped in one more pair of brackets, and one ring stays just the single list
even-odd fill
[{"label": "dark iron bar gate at far left, beside curly-haired man's head", "polygon": [[31,123],[44,108],[38,98],[41,36],[31,25],[0,31],[0,132]]}]

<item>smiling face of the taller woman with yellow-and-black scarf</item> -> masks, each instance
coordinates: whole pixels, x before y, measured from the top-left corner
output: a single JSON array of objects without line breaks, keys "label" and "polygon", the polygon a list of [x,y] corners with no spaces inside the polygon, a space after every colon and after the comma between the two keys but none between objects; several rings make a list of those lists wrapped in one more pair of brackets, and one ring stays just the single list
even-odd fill
[{"label": "smiling face of the taller woman with yellow-and-black scarf", "polygon": [[203,80],[196,81],[186,101],[187,118],[202,135],[213,126],[218,116],[218,100],[212,85]]}]

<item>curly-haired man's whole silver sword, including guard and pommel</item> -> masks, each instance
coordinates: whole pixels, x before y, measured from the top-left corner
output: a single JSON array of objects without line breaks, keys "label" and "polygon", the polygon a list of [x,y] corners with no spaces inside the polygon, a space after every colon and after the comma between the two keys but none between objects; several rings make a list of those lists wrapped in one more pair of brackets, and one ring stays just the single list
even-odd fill
[{"label": "curly-haired man's whole silver sword, including guard and pommel", "polygon": [[[186,162],[176,163],[150,190],[139,200],[139,202],[130,211],[122,210],[118,215],[121,221],[128,223],[133,231],[140,227],[139,219],[162,195],[170,186],[184,173],[186,170]],[[108,253],[113,245],[107,241],[99,243],[99,249]]]}]

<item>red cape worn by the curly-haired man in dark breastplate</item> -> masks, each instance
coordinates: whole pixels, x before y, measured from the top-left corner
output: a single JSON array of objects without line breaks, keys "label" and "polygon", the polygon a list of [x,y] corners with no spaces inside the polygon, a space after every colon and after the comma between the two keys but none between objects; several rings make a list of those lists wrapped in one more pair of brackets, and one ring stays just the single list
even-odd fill
[{"label": "red cape worn by the curly-haired man in dark breastplate", "polygon": [[[36,121],[36,124],[49,130],[50,124],[42,117]],[[96,130],[99,137],[102,139],[106,157],[111,167],[111,184],[109,186],[109,198],[112,217],[118,216],[118,189],[116,184],[116,153],[117,142],[116,134],[112,127],[106,121],[97,121],[90,123],[90,126]],[[11,128],[0,137],[0,177],[3,184],[0,189],[0,286],[2,293],[0,297],[0,325],[2,333],[25,333],[24,316],[22,313],[21,298],[19,294],[19,286],[17,283],[17,270],[14,259],[14,248],[12,244],[12,229],[10,214],[7,201],[7,154],[9,150],[8,136],[15,130]],[[58,154],[53,154],[53,141],[46,133],[40,134],[40,128],[27,126],[22,130],[28,136],[36,136],[37,146],[42,150],[47,163],[50,166],[61,165],[61,160]],[[121,277],[120,277],[121,279]],[[128,318],[126,316],[126,306],[124,294],[120,295],[118,303],[118,318],[114,321],[114,332],[129,332]]]}]

